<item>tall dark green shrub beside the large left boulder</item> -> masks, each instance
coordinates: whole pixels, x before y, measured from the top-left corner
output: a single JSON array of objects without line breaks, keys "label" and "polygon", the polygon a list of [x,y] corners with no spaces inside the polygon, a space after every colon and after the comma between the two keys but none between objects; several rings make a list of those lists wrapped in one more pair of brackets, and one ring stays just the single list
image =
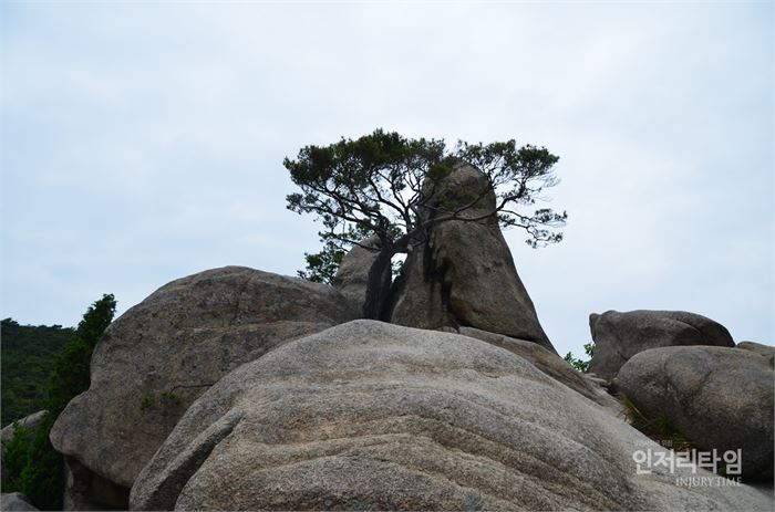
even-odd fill
[{"label": "tall dark green shrub beside the large left boulder", "polygon": [[[49,376],[43,400],[43,408],[49,412],[27,443],[25,458],[18,452],[10,453],[12,459],[25,459],[25,462],[19,472],[6,471],[3,483],[16,482],[18,488],[7,489],[3,485],[3,492],[21,491],[41,510],[61,510],[63,461],[51,446],[49,433],[68,403],[89,388],[92,352],[113,320],[115,306],[113,295],[103,295],[89,307],[75,333],[61,349]],[[8,456],[4,449],[3,460]]]}]

